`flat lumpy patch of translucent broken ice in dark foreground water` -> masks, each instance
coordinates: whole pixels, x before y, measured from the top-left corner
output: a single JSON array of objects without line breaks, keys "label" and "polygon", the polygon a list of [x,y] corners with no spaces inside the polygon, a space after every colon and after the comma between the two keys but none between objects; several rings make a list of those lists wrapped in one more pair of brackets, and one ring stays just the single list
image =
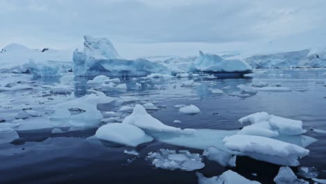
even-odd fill
[{"label": "flat lumpy patch of translucent broken ice in dark foreground water", "polygon": [[205,167],[205,164],[201,162],[201,156],[198,153],[189,153],[189,151],[160,149],[160,151],[148,153],[147,158],[155,167],[168,170],[194,171]]}]

